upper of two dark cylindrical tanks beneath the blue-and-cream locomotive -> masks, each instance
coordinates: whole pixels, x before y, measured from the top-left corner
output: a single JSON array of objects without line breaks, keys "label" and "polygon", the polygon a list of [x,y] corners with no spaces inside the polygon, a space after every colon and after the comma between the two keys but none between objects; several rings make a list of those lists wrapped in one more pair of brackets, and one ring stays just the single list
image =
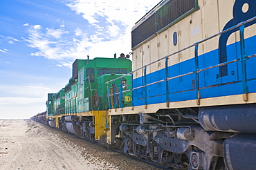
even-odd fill
[{"label": "upper of two dark cylindrical tanks beneath the blue-and-cream locomotive", "polygon": [[205,131],[256,133],[256,104],[203,107],[199,123]]}]

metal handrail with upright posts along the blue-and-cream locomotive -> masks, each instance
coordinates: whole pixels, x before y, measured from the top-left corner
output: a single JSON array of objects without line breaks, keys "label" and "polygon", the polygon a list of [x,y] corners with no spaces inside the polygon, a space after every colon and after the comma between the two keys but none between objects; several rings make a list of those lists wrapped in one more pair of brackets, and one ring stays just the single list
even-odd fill
[{"label": "metal handrail with upright posts along the blue-and-cream locomotive", "polygon": [[[159,82],[168,82],[170,79],[174,79],[174,78],[177,78],[177,77],[183,77],[183,76],[185,76],[185,75],[191,75],[191,74],[196,74],[196,81],[195,81],[195,83],[196,83],[196,91],[197,91],[197,93],[196,93],[196,99],[197,99],[197,104],[200,104],[200,102],[199,102],[199,99],[200,99],[200,94],[199,94],[199,73],[201,73],[201,71],[203,71],[203,70],[208,70],[208,69],[210,69],[210,68],[216,68],[216,67],[219,67],[219,66],[225,66],[225,65],[227,65],[227,64],[231,64],[231,63],[234,63],[234,62],[238,62],[238,61],[241,61],[241,63],[242,63],[242,65],[244,65],[245,63],[244,63],[244,60],[245,59],[249,59],[249,58],[251,58],[251,57],[256,57],[256,54],[255,55],[250,55],[250,56],[246,56],[245,54],[244,54],[244,28],[245,28],[245,24],[246,23],[249,23],[249,22],[251,22],[251,21],[254,21],[256,19],[256,17],[253,17],[253,18],[251,18],[251,19],[248,19],[248,20],[246,20],[246,21],[243,21],[243,22],[241,22],[241,23],[238,23],[237,25],[235,25],[235,26],[232,26],[231,28],[228,28],[228,29],[226,29],[226,30],[223,30],[223,31],[221,31],[221,32],[219,32],[219,33],[217,33],[217,34],[215,34],[215,35],[212,35],[212,36],[210,36],[210,37],[208,37],[208,38],[206,38],[206,39],[203,39],[203,40],[201,40],[201,41],[198,41],[198,42],[196,42],[196,43],[194,43],[194,44],[192,44],[192,45],[190,45],[190,46],[187,46],[187,47],[185,47],[185,48],[183,48],[183,49],[181,49],[181,50],[178,50],[178,51],[176,51],[176,52],[174,52],[174,53],[172,53],[172,54],[170,54],[170,55],[166,55],[165,57],[162,57],[161,59],[157,59],[156,61],[154,61],[154,62],[151,62],[151,63],[149,63],[149,64],[146,64],[145,66],[142,66],[142,67],[140,67],[140,68],[137,68],[136,70],[132,70],[130,73],[127,73],[127,74],[125,74],[125,75],[122,75],[122,76],[120,76],[120,77],[117,77],[117,78],[115,78],[115,79],[111,79],[111,80],[109,80],[108,82],[105,82],[106,84],[108,84],[108,87],[109,87],[109,83],[110,82],[115,82],[117,79],[122,79],[122,77],[125,77],[125,76],[127,76],[127,75],[131,75],[131,76],[133,76],[133,73],[135,73],[135,72],[137,72],[138,70],[142,70],[143,71],[143,75],[144,75],[144,78],[143,78],[143,85],[142,86],[138,86],[138,87],[135,87],[134,88],[134,86],[132,86],[132,88],[131,89],[129,89],[129,90],[127,90],[127,91],[134,91],[135,89],[138,89],[138,88],[144,88],[144,90],[143,90],[143,94],[144,94],[144,97],[145,97],[145,108],[146,108],[146,105],[147,105],[147,93],[146,93],[146,88],[147,88],[147,86],[149,86],[149,85],[152,85],[152,84],[156,84],[156,83],[159,83]],[[222,35],[223,33],[226,33],[226,32],[228,32],[228,31],[230,31],[230,30],[234,30],[235,28],[239,28],[239,30],[238,31],[240,31],[240,41],[241,41],[241,58],[240,59],[235,59],[235,60],[232,60],[232,61],[228,61],[228,62],[223,62],[223,63],[221,63],[221,64],[217,64],[217,65],[214,65],[214,66],[210,66],[210,67],[207,67],[207,68],[201,68],[201,69],[199,69],[199,64],[198,64],[198,48],[199,48],[199,44],[201,44],[201,43],[203,43],[203,42],[205,42],[205,41],[208,41],[208,40],[210,40],[210,39],[213,39],[214,37],[217,37],[217,36],[219,36],[219,35]],[[194,58],[195,58],[195,70],[194,71],[192,71],[192,72],[190,72],[190,73],[185,73],[185,74],[183,74],[183,75],[176,75],[176,76],[174,76],[174,77],[168,77],[168,75],[166,75],[166,77],[165,77],[165,79],[161,79],[161,80],[158,80],[157,82],[152,82],[152,83],[149,83],[149,84],[147,84],[146,82],[146,80],[147,80],[147,74],[146,74],[146,70],[147,70],[147,67],[148,66],[151,66],[152,64],[154,64],[154,63],[156,63],[156,62],[159,62],[159,61],[161,61],[161,60],[163,60],[163,59],[166,59],[166,61],[165,61],[165,65],[167,64],[166,62],[167,62],[167,59],[169,58],[169,57],[171,57],[172,55],[176,55],[176,54],[178,54],[178,53],[181,53],[181,52],[183,52],[184,50],[188,50],[189,48],[192,48],[192,47],[195,47],[195,49],[194,49]],[[167,68],[166,68],[167,66],[165,66],[165,72],[167,73]],[[143,70],[143,68],[144,68],[144,70]],[[242,82],[243,82],[243,93],[244,93],[244,95],[246,95],[247,94],[247,86],[246,86],[246,73],[242,73],[243,74],[243,80],[242,80]],[[168,98],[168,89],[166,89],[167,90],[167,92],[166,92],[166,98],[167,98],[167,102],[169,102],[169,98]],[[126,91],[125,91],[126,92]],[[115,94],[113,94],[113,95],[116,95],[116,94],[120,94],[120,93],[123,93],[123,91],[122,92],[119,92],[119,93],[115,93]],[[111,96],[110,94],[109,94],[109,96]],[[143,98],[144,98],[143,97]],[[247,101],[247,98],[246,97],[244,97],[244,101]],[[132,106],[133,106],[134,104],[132,104]],[[169,104],[167,104],[167,106],[169,106]],[[111,107],[110,107],[111,108]],[[115,108],[116,108],[116,106],[115,106]]]}]

